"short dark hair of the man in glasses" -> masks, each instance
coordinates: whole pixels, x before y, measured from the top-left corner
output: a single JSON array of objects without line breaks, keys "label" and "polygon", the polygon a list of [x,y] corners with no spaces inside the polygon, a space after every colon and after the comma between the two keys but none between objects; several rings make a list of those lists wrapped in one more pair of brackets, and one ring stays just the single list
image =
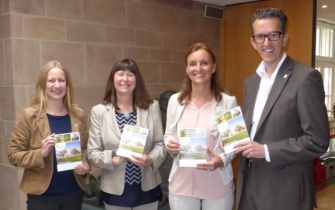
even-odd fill
[{"label": "short dark hair of the man in glasses", "polygon": [[286,34],[287,16],[283,12],[283,10],[279,8],[275,8],[275,7],[257,9],[257,11],[252,15],[251,20],[250,20],[250,27],[251,27],[252,33],[254,32],[253,26],[252,26],[253,23],[257,19],[266,19],[266,18],[278,18],[280,22],[281,32],[283,34]]}]

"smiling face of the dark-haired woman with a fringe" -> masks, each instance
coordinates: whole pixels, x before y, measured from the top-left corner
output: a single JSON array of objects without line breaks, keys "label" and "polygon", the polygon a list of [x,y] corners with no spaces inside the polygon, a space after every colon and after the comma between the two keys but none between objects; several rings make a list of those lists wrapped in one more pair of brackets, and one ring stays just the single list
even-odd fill
[{"label": "smiling face of the dark-haired woman with a fringe", "polygon": [[136,87],[136,76],[126,70],[119,70],[114,75],[115,90],[118,95],[131,95]]}]

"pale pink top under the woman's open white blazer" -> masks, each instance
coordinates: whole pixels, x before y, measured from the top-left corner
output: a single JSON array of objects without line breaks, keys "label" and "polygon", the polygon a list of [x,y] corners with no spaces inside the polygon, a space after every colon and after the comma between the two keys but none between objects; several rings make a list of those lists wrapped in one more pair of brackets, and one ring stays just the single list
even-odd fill
[{"label": "pale pink top under the woman's open white blazer", "polygon": [[[213,112],[213,102],[206,103],[200,109],[191,102],[185,107],[178,122],[178,128],[205,128],[207,146],[211,151],[216,143],[214,136],[210,133]],[[209,160],[208,156],[207,159]],[[230,187],[230,184],[224,185],[217,171],[208,172],[196,168],[178,167],[169,184],[169,192],[174,195],[217,200],[223,198]]]}]

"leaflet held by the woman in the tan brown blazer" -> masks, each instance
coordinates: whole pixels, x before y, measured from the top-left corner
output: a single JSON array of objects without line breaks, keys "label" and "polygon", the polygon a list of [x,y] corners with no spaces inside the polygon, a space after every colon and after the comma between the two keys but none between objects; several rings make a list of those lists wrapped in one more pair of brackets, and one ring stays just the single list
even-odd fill
[{"label": "leaflet held by the woman in the tan brown blazer", "polygon": [[79,132],[56,134],[55,153],[57,171],[73,170],[82,164]]}]

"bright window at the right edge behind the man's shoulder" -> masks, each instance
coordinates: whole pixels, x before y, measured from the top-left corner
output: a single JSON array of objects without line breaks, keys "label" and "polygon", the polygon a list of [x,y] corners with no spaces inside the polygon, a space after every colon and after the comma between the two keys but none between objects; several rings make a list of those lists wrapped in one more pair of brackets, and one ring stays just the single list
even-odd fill
[{"label": "bright window at the right edge behind the man's shoulder", "polygon": [[325,104],[331,114],[335,99],[335,58],[334,58],[335,25],[326,21],[317,21],[315,42],[315,64],[323,77]]}]

